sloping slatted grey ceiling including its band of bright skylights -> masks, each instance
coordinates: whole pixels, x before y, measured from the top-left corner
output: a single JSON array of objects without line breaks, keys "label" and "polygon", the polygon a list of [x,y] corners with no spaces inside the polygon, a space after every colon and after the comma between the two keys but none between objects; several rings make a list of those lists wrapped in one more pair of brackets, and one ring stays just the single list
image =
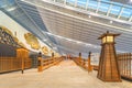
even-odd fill
[{"label": "sloping slatted grey ceiling including its band of bright skylights", "polygon": [[[89,51],[99,53],[100,40],[97,38],[107,31],[121,34],[116,40],[118,52],[132,52],[131,6],[109,0],[14,2],[10,7],[3,6],[1,10],[59,54],[75,56],[81,52],[87,57]],[[12,7],[16,9],[10,10]]]}]

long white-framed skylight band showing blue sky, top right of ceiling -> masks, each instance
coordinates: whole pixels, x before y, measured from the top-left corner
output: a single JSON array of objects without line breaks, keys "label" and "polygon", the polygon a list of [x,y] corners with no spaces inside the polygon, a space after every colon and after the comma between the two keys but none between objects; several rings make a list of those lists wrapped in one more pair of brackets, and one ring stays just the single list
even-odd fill
[{"label": "long white-framed skylight band showing blue sky, top right of ceiling", "polygon": [[[113,15],[117,16],[116,19],[122,20],[121,19],[121,16],[122,16],[122,18],[125,18],[125,21],[131,21],[132,22],[132,20],[130,20],[131,16],[132,16],[132,7],[131,6],[117,3],[117,2],[112,2],[112,1],[102,1],[102,0],[50,0],[50,1],[63,3],[65,6],[69,6],[68,3],[70,3],[70,4],[74,3],[75,6],[70,6],[70,7],[79,8],[79,9],[82,9],[82,10],[84,9],[85,10],[94,9],[95,13],[98,13],[98,14],[100,14],[99,13],[99,10],[100,10],[102,12],[106,12],[105,15],[107,15],[107,16],[110,16],[110,14],[113,14]],[[96,8],[94,8],[94,6]],[[106,9],[107,11],[101,10],[101,8]],[[129,10],[130,12],[127,12],[124,9]]]}]

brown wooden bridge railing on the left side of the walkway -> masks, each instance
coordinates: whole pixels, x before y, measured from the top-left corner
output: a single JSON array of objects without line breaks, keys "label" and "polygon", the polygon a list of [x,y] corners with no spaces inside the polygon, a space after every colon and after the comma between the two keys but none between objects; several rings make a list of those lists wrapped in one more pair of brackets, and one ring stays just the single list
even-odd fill
[{"label": "brown wooden bridge railing on the left side of the walkway", "polygon": [[43,72],[46,68],[50,68],[51,66],[54,66],[58,63],[61,63],[64,58],[63,57],[52,57],[52,58],[42,58],[38,57],[38,66],[37,69],[38,72]]}]

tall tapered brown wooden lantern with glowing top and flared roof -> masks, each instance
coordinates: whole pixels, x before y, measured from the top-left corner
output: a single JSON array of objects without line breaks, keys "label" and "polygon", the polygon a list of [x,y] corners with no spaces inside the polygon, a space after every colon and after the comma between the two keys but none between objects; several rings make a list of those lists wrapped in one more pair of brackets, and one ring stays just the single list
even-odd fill
[{"label": "tall tapered brown wooden lantern with glowing top and flared roof", "polygon": [[103,81],[121,81],[118,59],[114,48],[114,37],[120,34],[105,33],[101,40],[101,54],[99,59],[98,78]]}]

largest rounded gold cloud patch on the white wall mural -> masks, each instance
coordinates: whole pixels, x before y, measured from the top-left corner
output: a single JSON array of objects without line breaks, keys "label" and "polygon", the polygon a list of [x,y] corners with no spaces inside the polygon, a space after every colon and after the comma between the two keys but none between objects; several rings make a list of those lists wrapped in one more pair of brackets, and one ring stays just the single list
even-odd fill
[{"label": "largest rounded gold cloud patch on the white wall mural", "polygon": [[24,37],[25,37],[26,43],[31,45],[31,48],[40,50],[41,45],[37,38],[32,33],[25,33]]}]

